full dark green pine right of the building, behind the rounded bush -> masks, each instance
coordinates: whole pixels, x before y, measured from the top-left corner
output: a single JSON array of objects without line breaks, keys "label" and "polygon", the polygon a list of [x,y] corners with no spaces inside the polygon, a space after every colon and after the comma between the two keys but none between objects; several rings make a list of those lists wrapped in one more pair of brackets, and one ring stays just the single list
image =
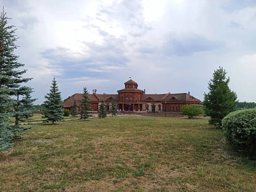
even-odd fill
[{"label": "full dark green pine right of the building, behind the rounded bush", "polygon": [[228,87],[230,78],[226,79],[226,71],[219,67],[213,73],[213,79],[208,83],[209,93],[204,93],[205,112],[211,117],[209,123],[220,125],[221,120],[237,108],[236,93]]}]

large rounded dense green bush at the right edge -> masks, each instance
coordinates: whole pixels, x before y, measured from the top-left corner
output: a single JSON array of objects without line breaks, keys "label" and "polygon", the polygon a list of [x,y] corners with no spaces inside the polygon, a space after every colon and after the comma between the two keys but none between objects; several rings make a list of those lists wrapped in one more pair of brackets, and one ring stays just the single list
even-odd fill
[{"label": "large rounded dense green bush at the right edge", "polygon": [[256,108],[229,113],[222,119],[222,129],[236,149],[256,154]]}]

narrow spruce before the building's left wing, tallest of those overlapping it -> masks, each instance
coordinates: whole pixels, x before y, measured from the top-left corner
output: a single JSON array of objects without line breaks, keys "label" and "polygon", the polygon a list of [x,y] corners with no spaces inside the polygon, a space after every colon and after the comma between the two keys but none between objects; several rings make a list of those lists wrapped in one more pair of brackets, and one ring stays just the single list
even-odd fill
[{"label": "narrow spruce before the building's left wing, tallest of those overlapping it", "polygon": [[90,99],[88,97],[88,91],[87,88],[84,87],[83,90],[83,99],[81,100],[81,109],[80,109],[80,114],[81,114],[81,119],[88,119],[90,116],[92,116],[92,105],[90,103]]}]

